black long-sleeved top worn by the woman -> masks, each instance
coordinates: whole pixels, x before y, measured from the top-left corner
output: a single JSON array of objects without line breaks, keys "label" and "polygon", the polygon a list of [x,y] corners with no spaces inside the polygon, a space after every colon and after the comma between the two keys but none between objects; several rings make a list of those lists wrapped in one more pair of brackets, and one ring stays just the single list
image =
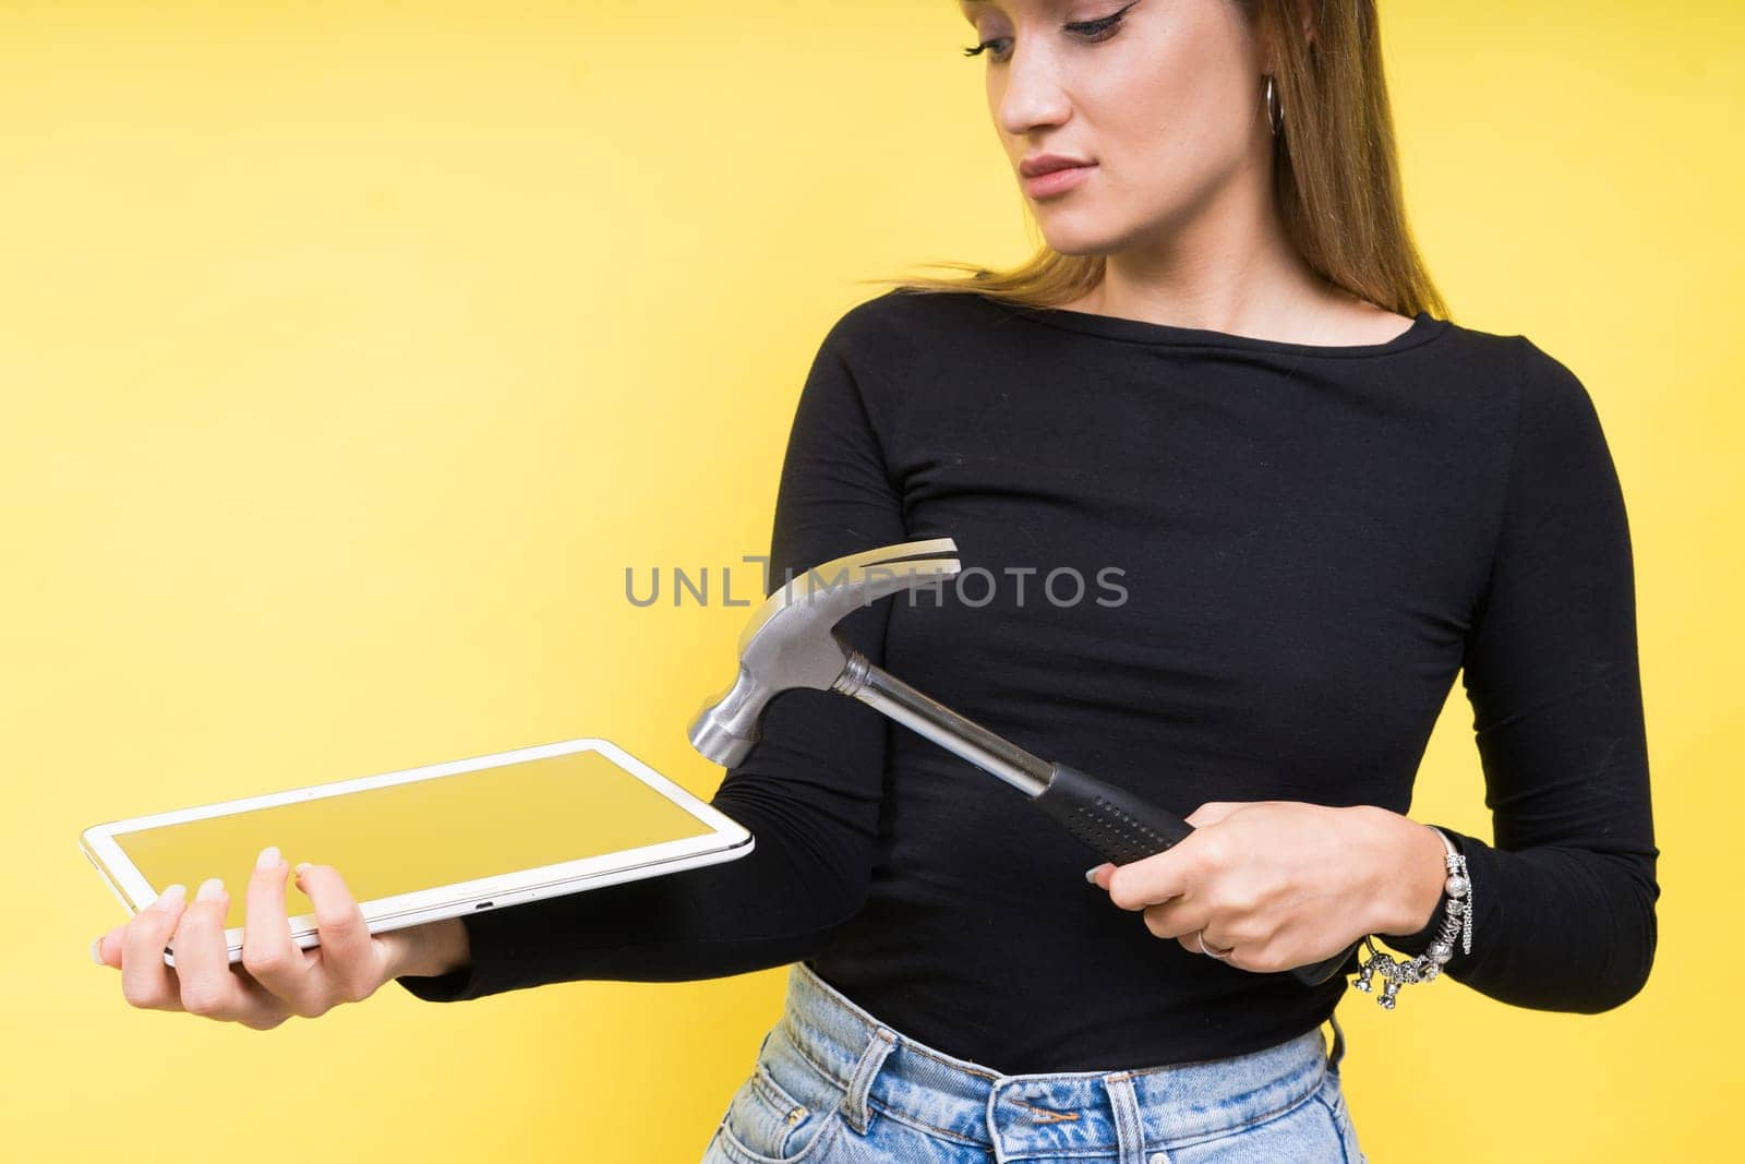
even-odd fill
[{"label": "black long-sleeved top worn by the woman", "polygon": [[[1525,337],[1426,312],[1324,347],[886,291],[811,365],[766,592],[937,536],[963,574],[855,609],[845,635],[1181,815],[1406,813],[1459,674],[1494,838],[1447,829],[1476,909],[1445,974],[1544,1010],[1642,988],[1659,887],[1625,504],[1584,386]],[[471,965],[400,984],[457,1002],[806,960],[1009,1073],[1241,1054],[1347,988],[1153,937],[1021,792],[841,695],[777,696],[712,803],[750,855],[468,914]],[[1387,944],[1420,953],[1440,914]]]}]

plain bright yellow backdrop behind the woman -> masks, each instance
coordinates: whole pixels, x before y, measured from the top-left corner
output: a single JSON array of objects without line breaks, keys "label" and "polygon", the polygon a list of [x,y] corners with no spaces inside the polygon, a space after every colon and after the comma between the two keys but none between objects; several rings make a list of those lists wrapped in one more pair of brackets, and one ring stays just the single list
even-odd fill
[{"label": "plain bright yellow backdrop behind the woman", "polygon": [[[1742,17],[1415,2],[1382,31],[1455,319],[1569,363],[1625,482],[1665,895],[1621,1010],[1351,993],[1354,1119],[1373,1161],[1719,1159]],[[124,1003],[75,836],[578,735],[708,796],[684,724],[743,609],[632,607],[625,567],[766,551],[804,370],[881,290],[855,279],[1028,253],[968,40],[948,0],[0,7],[10,1159],[696,1159],[785,970],[389,986],[262,1035]],[[1413,815],[1488,836],[1459,686]]]}]

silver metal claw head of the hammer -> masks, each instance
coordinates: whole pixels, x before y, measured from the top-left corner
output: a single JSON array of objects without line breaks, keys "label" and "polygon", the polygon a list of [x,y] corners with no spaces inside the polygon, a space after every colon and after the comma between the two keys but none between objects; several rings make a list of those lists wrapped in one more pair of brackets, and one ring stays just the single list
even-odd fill
[{"label": "silver metal claw head of the hammer", "polygon": [[906,558],[956,550],[949,537],[878,546],[813,565],[778,588],[740,633],[738,679],[691,719],[691,747],[724,768],[738,764],[757,743],[771,696],[789,688],[829,691],[841,677],[855,653],[836,630],[845,614],[899,590],[955,576],[956,558]]}]

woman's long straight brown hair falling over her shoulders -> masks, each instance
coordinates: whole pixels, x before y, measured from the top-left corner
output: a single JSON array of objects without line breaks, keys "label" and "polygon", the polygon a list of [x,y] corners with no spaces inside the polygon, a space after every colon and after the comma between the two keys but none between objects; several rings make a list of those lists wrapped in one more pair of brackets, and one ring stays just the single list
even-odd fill
[{"label": "woman's long straight brown hair falling over her shoulders", "polygon": [[[1406,225],[1394,155],[1394,122],[1382,73],[1375,0],[1319,0],[1312,38],[1302,0],[1230,0],[1276,47],[1274,86],[1284,127],[1274,141],[1272,188],[1286,237],[1338,288],[1403,316],[1448,305]],[[1035,225],[1026,202],[1026,220]],[[975,291],[1014,304],[1056,307],[1103,281],[1103,255],[1061,255],[1045,243],[1007,270],[977,264],[923,264],[967,277],[857,279],[907,291]]]}]

